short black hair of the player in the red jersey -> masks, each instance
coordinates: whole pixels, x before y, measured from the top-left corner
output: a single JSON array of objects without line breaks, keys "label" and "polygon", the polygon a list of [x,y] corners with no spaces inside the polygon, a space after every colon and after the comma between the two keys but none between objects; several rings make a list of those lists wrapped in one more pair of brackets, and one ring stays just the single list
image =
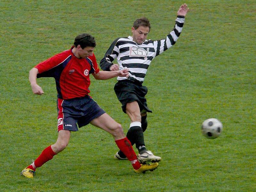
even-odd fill
[{"label": "short black hair of the player in the red jersey", "polygon": [[77,47],[77,45],[80,45],[81,48],[84,49],[85,47],[96,47],[96,42],[93,36],[87,33],[82,33],[76,36],[74,45],[75,47]]}]

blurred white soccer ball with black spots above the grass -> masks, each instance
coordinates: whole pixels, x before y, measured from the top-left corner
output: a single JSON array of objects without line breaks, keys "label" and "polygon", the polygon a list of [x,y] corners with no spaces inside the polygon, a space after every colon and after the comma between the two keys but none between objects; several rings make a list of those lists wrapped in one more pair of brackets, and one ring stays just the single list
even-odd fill
[{"label": "blurred white soccer ball with black spots above the grass", "polygon": [[219,137],[222,129],[222,123],[215,118],[206,119],[202,124],[202,134],[209,139]]}]

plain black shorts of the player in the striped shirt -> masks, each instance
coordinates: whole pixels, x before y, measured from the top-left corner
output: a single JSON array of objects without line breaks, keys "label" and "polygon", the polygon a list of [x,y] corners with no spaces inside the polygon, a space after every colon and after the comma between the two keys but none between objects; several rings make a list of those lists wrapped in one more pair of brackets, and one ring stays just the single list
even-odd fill
[{"label": "plain black shorts of the player in the striped shirt", "polygon": [[114,87],[118,100],[122,103],[122,109],[126,113],[126,104],[137,101],[140,107],[140,112],[152,111],[148,108],[145,95],[148,92],[146,86],[131,80],[119,80]]}]

